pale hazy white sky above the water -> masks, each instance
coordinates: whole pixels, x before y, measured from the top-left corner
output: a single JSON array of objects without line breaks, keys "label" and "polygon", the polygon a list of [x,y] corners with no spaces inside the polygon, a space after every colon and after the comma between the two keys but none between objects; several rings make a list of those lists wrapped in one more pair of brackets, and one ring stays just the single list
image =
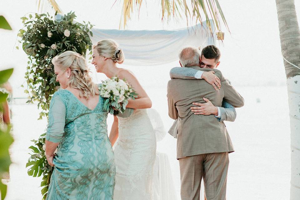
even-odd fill
[{"label": "pale hazy white sky above the water", "polygon": [[[119,27],[122,8],[119,0],[112,9],[115,0],[56,1],[64,13],[75,11],[79,22],[90,21],[96,28],[101,29]],[[4,15],[13,28],[13,31],[1,30],[0,69],[15,68],[11,82],[13,88],[18,88],[24,82],[27,57],[22,50],[16,50],[14,45],[17,32],[22,28],[20,17],[28,12],[37,12],[36,1],[0,0],[0,2],[0,15]],[[147,5],[144,4],[141,8],[139,19],[137,15],[133,15],[126,29],[172,30],[186,27],[185,19],[162,23],[160,1],[146,2]],[[223,44],[217,42],[222,53],[219,69],[224,76],[235,85],[284,84],[286,77],[281,56],[275,0],[220,0],[219,2],[232,33],[230,35],[223,26],[225,40]],[[299,11],[300,1],[295,1],[295,4],[296,10]],[[299,13],[297,14],[299,19]],[[174,65],[177,65],[177,62],[163,67],[168,71]]]}]

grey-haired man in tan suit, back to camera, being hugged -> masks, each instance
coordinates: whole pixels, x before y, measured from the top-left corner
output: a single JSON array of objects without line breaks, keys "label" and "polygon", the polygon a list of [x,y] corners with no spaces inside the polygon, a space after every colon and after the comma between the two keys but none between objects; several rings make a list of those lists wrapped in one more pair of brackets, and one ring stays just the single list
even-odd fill
[{"label": "grey-haired man in tan suit, back to camera, being hugged", "polygon": [[207,200],[225,200],[228,153],[234,151],[231,139],[223,122],[214,115],[194,114],[191,105],[193,102],[204,103],[202,99],[206,97],[218,107],[221,107],[223,100],[234,107],[242,107],[244,100],[219,70],[199,67],[200,53],[197,48],[186,47],[179,57],[183,67],[213,71],[220,80],[216,85],[217,91],[203,79],[175,78],[168,82],[169,116],[178,119],[177,159],[181,199],[198,200],[203,177]]}]

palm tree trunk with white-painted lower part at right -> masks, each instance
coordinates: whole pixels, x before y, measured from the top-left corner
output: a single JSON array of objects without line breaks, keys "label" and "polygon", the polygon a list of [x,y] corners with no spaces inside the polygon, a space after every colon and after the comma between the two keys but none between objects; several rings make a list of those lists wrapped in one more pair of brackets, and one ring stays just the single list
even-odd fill
[{"label": "palm tree trunk with white-painted lower part at right", "polygon": [[290,199],[300,199],[300,31],[294,0],[275,0],[291,126]]}]

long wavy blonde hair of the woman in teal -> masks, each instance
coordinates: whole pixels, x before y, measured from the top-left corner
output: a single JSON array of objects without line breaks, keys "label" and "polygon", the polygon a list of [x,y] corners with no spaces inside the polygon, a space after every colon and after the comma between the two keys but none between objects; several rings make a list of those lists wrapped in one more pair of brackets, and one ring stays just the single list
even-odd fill
[{"label": "long wavy blonde hair of the woman in teal", "polygon": [[99,94],[96,84],[89,75],[88,65],[85,58],[79,53],[66,51],[52,59],[52,63],[62,69],[71,69],[68,86],[79,90],[79,97],[89,98]]}]

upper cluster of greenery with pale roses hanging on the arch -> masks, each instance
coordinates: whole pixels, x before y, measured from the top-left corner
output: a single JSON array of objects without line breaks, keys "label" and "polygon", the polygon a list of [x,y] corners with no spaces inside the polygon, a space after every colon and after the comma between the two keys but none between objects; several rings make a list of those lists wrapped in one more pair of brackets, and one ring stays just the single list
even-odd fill
[{"label": "upper cluster of greenery with pale roses hanging on the arch", "polygon": [[27,103],[38,102],[38,108],[43,110],[39,118],[42,119],[47,116],[51,96],[59,87],[52,58],[65,51],[74,51],[83,56],[87,50],[91,53],[92,41],[89,35],[93,36],[93,25],[90,22],[75,22],[74,12],[57,20],[49,14],[35,13],[28,17],[21,17],[24,28],[18,33],[19,42],[28,55],[25,73],[27,89],[24,92],[30,97]]}]

